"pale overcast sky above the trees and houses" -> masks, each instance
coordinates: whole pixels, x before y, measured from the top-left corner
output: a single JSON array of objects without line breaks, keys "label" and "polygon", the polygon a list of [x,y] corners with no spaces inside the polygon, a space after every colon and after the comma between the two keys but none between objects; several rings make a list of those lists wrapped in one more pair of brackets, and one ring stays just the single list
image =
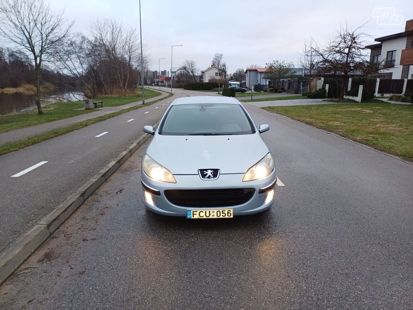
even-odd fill
[{"label": "pale overcast sky above the trees and houses", "polygon": [[[320,4],[317,6],[317,4]],[[108,18],[134,26],[139,31],[138,0],[52,0],[53,10],[66,9],[75,19],[74,31],[88,32],[90,21]],[[375,7],[394,7],[403,23],[377,25],[371,17]],[[183,60],[195,60],[199,69],[210,66],[216,52],[223,54],[228,72],[249,64],[265,67],[266,62],[285,60],[298,63],[304,39],[313,36],[324,43],[334,36],[339,23],[347,19],[356,27],[367,22],[366,31],[380,37],[404,31],[413,19],[413,1],[196,1],[141,0],[142,38],[147,44],[152,70],[171,67]],[[372,40],[373,41],[373,40]]]}]

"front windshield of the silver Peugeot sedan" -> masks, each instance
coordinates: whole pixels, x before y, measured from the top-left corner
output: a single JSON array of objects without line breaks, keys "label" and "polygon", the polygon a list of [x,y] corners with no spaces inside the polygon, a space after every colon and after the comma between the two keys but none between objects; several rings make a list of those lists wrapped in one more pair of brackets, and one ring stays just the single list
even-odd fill
[{"label": "front windshield of the silver Peugeot sedan", "polygon": [[159,131],[170,136],[253,133],[252,123],[242,107],[224,103],[173,105]]}]

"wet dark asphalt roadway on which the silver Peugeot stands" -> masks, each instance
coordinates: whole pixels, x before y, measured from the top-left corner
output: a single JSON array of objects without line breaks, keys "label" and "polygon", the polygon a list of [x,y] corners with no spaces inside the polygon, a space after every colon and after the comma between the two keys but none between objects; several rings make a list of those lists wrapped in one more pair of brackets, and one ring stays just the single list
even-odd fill
[{"label": "wet dark asphalt roadway on which the silver Peugeot stands", "polygon": [[413,167],[245,104],[270,210],[196,221],[141,200],[145,145],[0,288],[4,309],[411,309]]}]

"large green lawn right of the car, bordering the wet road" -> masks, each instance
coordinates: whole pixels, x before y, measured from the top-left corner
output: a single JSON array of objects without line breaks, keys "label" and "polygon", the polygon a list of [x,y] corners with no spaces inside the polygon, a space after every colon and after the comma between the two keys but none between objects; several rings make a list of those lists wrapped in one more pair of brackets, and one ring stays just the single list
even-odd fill
[{"label": "large green lawn right of the car, bordering the wet road", "polygon": [[317,128],[413,161],[413,107],[346,103],[264,107]]}]

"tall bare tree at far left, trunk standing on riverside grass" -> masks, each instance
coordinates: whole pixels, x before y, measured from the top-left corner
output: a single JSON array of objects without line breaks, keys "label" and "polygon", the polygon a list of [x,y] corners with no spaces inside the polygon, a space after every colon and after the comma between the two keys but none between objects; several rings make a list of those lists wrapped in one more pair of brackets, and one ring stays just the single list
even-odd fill
[{"label": "tall bare tree at far left, trunk standing on riverside grass", "polygon": [[[44,0],[4,0],[1,3],[0,35],[8,43],[30,53],[34,62],[36,105],[40,105],[39,71],[53,48],[68,35],[73,21],[66,24],[63,12],[52,12]],[[65,25],[66,24],[66,25]]]}]

